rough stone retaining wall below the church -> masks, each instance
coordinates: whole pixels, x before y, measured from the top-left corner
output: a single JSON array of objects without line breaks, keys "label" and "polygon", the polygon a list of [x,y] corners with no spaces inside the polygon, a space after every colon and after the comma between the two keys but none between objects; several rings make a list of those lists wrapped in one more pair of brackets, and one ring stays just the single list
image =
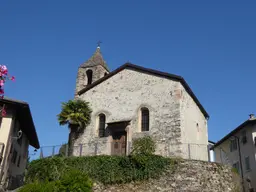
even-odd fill
[{"label": "rough stone retaining wall below the church", "polygon": [[230,167],[203,161],[182,160],[177,169],[159,179],[104,186],[95,184],[95,192],[240,192],[239,176]]}]

